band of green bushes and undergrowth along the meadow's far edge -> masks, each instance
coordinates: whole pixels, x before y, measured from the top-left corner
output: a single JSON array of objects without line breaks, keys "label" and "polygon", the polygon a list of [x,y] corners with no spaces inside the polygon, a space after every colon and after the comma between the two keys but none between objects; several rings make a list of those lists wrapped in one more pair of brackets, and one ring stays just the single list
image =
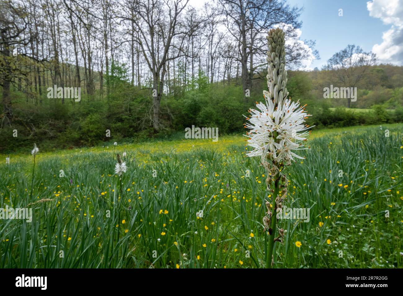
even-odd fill
[{"label": "band of green bushes and undergrowth along the meadow's far edge", "polygon": [[[182,66],[179,68],[183,71]],[[99,89],[97,79],[93,96],[82,88],[80,102],[65,100],[64,104],[60,99],[48,99],[45,90],[39,97],[12,89],[15,118],[11,127],[0,130],[0,152],[26,149],[33,143],[46,144],[45,149],[51,150],[102,142],[167,139],[177,137],[192,125],[218,127],[220,135],[243,133],[243,115],[254,108],[255,101],[263,101],[266,81],[253,80],[250,97],[245,97],[239,80],[211,84],[205,73],[199,72],[183,86],[181,71],[166,83],[170,85],[170,93],[162,96],[160,122],[163,128],[158,133],[152,127],[152,90],[131,85],[126,64],[114,61],[109,76],[104,74],[104,82],[108,77],[110,85],[108,97],[106,86]],[[351,103],[351,110],[343,108],[345,99],[323,98],[323,87],[332,82],[328,74],[326,71],[289,71],[289,96],[302,105],[307,104],[306,111],[313,115],[307,119],[307,124],[323,128],[402,121],[403,83],[395,77],[403,75],[402,67],[371,68],[358,86],[358,98]],[[150,86],[151,81],[147,85]],[[357,107],[370,112],[356,112]],[[10,137],[14,129],[18,130],[17,138]],[[110,138],[105,136],[106,129],[111,131]]]}]

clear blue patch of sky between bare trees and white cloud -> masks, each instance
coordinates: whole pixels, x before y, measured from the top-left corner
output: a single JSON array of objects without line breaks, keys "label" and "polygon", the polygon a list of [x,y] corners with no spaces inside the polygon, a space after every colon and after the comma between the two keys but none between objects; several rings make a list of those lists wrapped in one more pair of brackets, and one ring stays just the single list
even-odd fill
[{"label": "clear blue patch of sky between bare trees and white cloud", "polygon": [[[321,68],[332,55],[348,44],[360,46],[370,52],[374,44],[382,43],[382,32],[391,26],[381,19],[370,17],[367,0],[289,0],[289,4],[303,7],[300,20],[301,39],[316,40],[320,60],[310,68]],[[339,17],[339,8],[343,16]]]}]

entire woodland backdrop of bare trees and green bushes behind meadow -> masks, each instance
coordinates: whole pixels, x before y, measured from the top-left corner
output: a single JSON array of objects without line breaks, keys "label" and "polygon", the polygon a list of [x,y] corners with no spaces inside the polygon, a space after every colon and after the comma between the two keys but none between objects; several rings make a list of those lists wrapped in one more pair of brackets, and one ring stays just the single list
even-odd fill
[{"label": "entire woodland backdrop of bare trees and green bushes behind meadow", "polygon": [[[267,87],[273,27],[286,33],[292,97],[314,102],[308,108],[318,114],[379,105],[385,120],[398,121],[402,67],[376,65],[372,53],[346,45],[323,69],[301,71],[319,54],[315,41],[299,39],[300,13],[284,0],[215,0],[200,9],[187,0],[1,0],[0,151],[170,137],[192,124],[242,131],[242,114]],[[323,99],[330,84],[358,87],[358,100]],[[54,85],[81,87],[81,100],[49,99]]]}]

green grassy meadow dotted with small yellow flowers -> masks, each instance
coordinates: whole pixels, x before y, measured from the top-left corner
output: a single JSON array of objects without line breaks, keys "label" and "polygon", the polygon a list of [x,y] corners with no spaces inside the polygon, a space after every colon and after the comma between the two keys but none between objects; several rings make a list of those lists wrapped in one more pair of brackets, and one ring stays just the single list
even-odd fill
[{"label": "green grassy meadow dotted with small yellow flowers", "polygon": [[[402,145],[403,124],[314,130],[285,169],[284,204],[310,219],[278,220],[274,267],[402,268]],[[272,197],[245,137],[44,148],[34,174],[32,147],[0,155],[0,207],[33,209],[0,219],[0,268],[264,267]]]}]

